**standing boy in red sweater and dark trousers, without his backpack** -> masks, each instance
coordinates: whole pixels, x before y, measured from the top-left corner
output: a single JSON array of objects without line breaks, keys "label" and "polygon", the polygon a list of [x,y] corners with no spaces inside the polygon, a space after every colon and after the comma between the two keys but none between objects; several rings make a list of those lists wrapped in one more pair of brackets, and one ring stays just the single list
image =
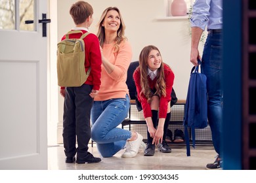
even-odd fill
[{"label": "standing boy in red sweater and dark trousers, without his backpack", "polygon": [[[75,27],[72,30],[81,30],[87,33],[88,27],[93,22],[93,8],[85,1],[77,1],[70,8]],[[70,39],[79,39],[81,33],[74,33]],[[65,39],[62,37],[62,40]],[[91,139],[91,107],[93,98],[100,89],[101,54],[98,37],[90,33],[83,39],[85,42],[85,71],[91,67],[91,73],[85,83],[79,87],[61,87],[60,94],[64,99],[63,114],[63,142],[66,154],[66,163],[98,163],[100,158],[95,158],[88,152],[88,143]],[[75,142],[77,139],[77,148]]]}]

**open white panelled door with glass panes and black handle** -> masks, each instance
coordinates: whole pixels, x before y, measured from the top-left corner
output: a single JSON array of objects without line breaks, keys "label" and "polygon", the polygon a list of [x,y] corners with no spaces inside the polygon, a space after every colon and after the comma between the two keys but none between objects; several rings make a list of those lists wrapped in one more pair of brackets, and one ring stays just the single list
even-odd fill
[{"label": "open white panelled door with glass panes and black handle", "polygon": [[[0,27],[0,169],[47,169],[47,37],[39,24],[47,1],[1,0],[4,5],[16,21],[13,29]],[[21,16],[29,5],[33,29],[24,31]],[[7,22],[9,12],[0,13]]]}]

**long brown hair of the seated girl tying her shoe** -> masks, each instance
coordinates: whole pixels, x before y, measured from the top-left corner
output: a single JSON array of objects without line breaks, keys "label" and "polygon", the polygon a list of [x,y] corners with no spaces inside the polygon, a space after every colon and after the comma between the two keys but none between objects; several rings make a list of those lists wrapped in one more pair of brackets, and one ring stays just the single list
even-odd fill
[{"label": "long brown hair of the seated girl tying her shoe", "polygon": [[[156,76],[156,93],[152,93],[149,83],[148,83],[148,56],[151,50],[158,50],[156,46],[149,45],[145,46],[142,51],[140,52],[139,56],[139,68],[140,68],[140,86],[142,88],[139,95],[141,96],[142,93],[148,99],[148,103],[152,101],[153,95],[158,95],[161,97],[163,95],[166,96],[166,85],[165,85],[165,75],[164,75],[164,67],[163,67],[163,60],[161,61],[161,66],[158,68],[158,75]],[[160,53],[160,50],[158,50]],[[161,53],[160,53],[161,55]]]}]

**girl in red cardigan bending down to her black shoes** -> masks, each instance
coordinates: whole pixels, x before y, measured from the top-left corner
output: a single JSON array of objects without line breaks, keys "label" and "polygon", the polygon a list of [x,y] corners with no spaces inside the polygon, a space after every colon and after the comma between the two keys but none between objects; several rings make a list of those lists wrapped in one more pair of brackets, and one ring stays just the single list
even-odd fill
[{"label": "girl in red cardigan bending down to her black shoes", "polygon": [[154,156],[156,145],[160,152],[171,152],[165,137],[171,118],[174,74],[171,68],[163,63],[156,46],[149,45],[142,49],[139,67],[133,73],[133,78],[148,128],[148,144],[144,156]]}]

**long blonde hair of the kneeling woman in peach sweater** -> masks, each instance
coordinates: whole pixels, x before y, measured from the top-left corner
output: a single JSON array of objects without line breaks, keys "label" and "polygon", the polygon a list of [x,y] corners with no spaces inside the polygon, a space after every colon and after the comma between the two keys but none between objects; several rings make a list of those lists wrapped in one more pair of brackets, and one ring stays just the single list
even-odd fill
[{"label": "long blonde hair of the kneeling woman in peach sweater", "polygon": [[120,10],[117,7],[108,7],[106,8],[106,10],[104,10],[104,12],[102,12],[102,15],[100,17],[100,21],[98,22],[98,33],[97,33],[97,37],[98,40],[100,41],[100,46],[103,46],[104,41],[105,41],[105,27],[102,26],[103,22],[104,22],[104,18],[106,17],[106,14],[110,11],[110,10],[116,10],[119,14],[120,17],[120,27],[117,30],[117,37],[116,37],[116,43],[115,43],[115,47],[116,47],[116,52],[118,52],[119,50],[119,44],[123,41],[126,40],[127,38],[125,37],[125,24],[123,22],[123,18],[121,16]]}]

